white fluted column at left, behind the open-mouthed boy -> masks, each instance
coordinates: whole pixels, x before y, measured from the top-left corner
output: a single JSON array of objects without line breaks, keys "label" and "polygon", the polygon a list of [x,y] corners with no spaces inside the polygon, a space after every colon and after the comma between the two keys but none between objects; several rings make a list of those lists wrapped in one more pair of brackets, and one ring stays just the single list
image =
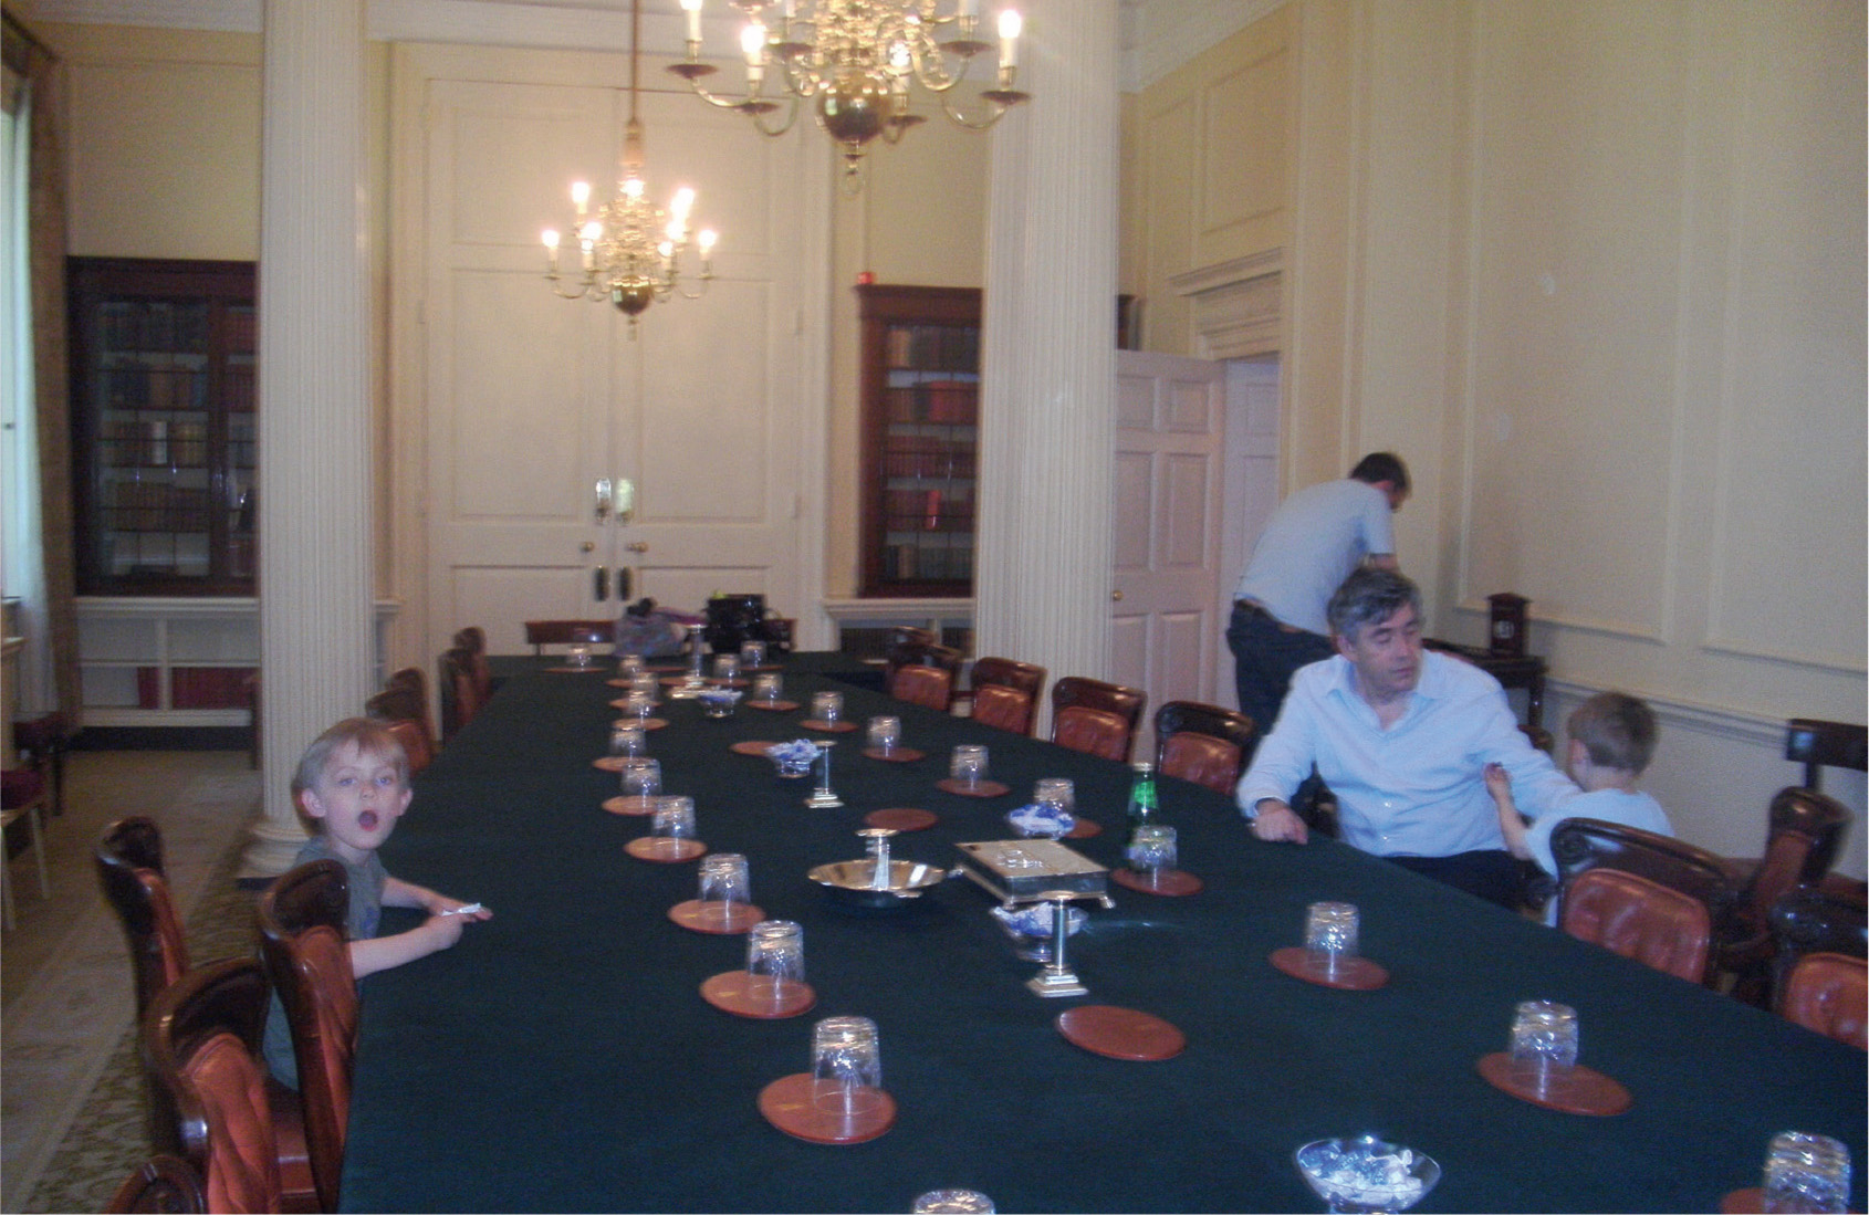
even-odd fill
[{"label": "white fluted column at left, behind the open-mouthed boy", "polygon": [[372,690],[363,0],[269,0],[260,144],[264,802],[243,877],[305,841],[292,772]]}]

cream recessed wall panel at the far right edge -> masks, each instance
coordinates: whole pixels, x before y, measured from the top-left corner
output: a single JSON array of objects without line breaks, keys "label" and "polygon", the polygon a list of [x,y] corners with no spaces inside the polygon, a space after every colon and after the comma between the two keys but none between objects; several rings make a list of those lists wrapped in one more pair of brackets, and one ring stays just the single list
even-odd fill
[{"label": "cream recessed wall panel at the far right edge", "polygon": [[1789,4],[1748,36],[1706,643],[1862,671],[1863,9]]}]

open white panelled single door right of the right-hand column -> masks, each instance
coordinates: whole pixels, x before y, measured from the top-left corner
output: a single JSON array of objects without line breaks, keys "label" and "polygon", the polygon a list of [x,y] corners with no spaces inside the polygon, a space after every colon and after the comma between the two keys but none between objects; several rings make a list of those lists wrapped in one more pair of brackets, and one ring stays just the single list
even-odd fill
[{"label": "open white panelled single door right of the right-hand column", "polygon": [[[1166,701],[1215,699],[1226,368],[1207,359],[1116,355],[1116,578],[1110,673]],[[1136,757],[1153,755],[1142,731]]]}]

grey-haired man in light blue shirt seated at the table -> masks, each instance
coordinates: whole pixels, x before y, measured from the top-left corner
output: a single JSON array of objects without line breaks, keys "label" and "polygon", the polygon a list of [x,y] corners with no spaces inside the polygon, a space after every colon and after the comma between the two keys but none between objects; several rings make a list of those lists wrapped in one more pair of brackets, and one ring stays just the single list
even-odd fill
[{"label": "grey-haired man in light blue shirt seated at the table", "polygon": [[1291,680],[1239,808],[1260,839],[1305,843],[1290,798],[1316,765],[1346,843],[1514,907],[1519,869],[1482,770],[1499,763],[1531,819],[1577,787],[1519,733],[1499,680],[1422,650],[1420,615],[1420,591],[1394,570],[1344,579],[1329,606],[1336,656]]}]

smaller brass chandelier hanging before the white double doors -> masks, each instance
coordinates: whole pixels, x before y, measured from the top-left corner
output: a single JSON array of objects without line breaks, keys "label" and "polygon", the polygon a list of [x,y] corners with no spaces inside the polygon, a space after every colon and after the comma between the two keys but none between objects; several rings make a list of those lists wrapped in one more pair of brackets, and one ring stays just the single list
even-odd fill
[{"label": "smaller brass chandelier hanging before the white double doors", "polygon": [[[714,279],[712,228],[695,234],[701,254],[701,288],[682,286],[680,264],[688,252],[688,215],[695,193],[680,187],[667,209],[649,200],[643,183],[643,123],[635,118],[635,45],[641,22],[641,0],[630,6],[630,123],[622,135],[622,181],[617,198],[591,207],[591,185],[572,183],[572,237],[578,243],[581,265],[574,273],[559,271],[559,234],[546,228],[546,279],[563,299],[609,301],[630,318],[630,336],[635,336],[635,318],[652,303],[680,293],[699,299]],[[568,284],[568,288],[564,286]]]}]

